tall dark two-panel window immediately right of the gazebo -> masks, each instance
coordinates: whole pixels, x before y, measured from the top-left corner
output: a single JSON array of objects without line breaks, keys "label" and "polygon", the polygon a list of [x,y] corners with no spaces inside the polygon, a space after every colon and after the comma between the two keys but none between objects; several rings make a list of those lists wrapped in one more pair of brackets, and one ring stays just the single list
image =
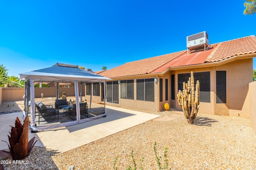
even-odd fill
[{"label": "tall dark two-panel window immediately right of the gazebo", "polygon": [[118,104],[118,81],[107,82],[107,102]]}]

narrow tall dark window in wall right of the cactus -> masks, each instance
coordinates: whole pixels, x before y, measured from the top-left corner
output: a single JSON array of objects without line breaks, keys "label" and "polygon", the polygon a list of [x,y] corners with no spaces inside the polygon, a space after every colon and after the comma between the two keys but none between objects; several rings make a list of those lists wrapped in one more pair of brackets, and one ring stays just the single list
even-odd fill
[{"label": "narrow tall dark window in wall right of the cactus", "polygon": [[216,71],[216,103],[226,103],[226,71]]}]

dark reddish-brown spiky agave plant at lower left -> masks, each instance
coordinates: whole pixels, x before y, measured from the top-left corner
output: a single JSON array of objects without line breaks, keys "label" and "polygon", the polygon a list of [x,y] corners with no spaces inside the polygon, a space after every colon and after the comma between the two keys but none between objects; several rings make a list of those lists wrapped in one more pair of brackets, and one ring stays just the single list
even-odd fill
[{"label": "dark reddish-brown spiky agave plant at lower left", "polygon": [[8,147],[10,152],[0,150],[0,156],[6,158],[12,157],[13,160],[22,160],[29,155],[38,139],[34,142],[34,139],[36,138],[35,136],[28,142],[28,124],[28,116],[26,116],[23,125],[21,125],[19,118],[16,118],[15,127],[11,126],[10,136],[8,135],[10,143]]}]

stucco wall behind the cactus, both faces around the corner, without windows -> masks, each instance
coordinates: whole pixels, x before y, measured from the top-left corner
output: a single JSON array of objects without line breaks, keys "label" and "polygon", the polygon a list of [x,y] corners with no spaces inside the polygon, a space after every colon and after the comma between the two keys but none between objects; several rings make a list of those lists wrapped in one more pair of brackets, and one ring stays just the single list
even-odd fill
[{"label": "stucco wall behind the cactus, both faces around the corner, without windows", "polygon": [[[175,92],[178,91],[178,74],[190,73],[191,71],[210,71],[210,103],[200,102],[198,113],[249,117],[249,98],[246,96],[248,84],[252,82],[252,59],[237,60],[220,66],[172,71],[175,73]],[[216,104],[216,71],[226,71],[225,104]],[[177,99],[172,107],[181,111]]]}]

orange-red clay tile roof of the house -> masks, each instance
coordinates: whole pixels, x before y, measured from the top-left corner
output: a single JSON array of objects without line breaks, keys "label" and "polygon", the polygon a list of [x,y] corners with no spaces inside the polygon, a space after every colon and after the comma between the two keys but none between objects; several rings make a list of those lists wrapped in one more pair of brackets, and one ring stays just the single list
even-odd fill
[{"label": "orange-red clay tile roof of the house", "polygon": [[197,51],[188,54],[185,50],[160,55],[125,63],[110,70],[99,71],[97,74],[108,78],[117,78],[160,73],[170,67],[218,62],[230,57],[250,53],[256,53],[256,37],[254,35],[216,43],[206,51]]}]

